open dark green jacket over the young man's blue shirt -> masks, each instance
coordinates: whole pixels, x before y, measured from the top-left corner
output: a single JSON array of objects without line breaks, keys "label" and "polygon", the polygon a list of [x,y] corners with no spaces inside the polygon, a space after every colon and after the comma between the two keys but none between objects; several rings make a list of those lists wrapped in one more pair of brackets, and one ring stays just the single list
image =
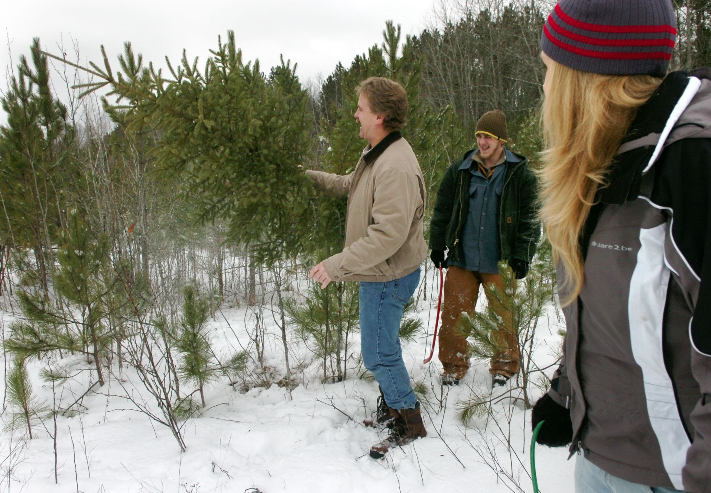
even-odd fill
[{"label": "open dark green jacket over the young man's blue shirt", "polygon": [[[467,151],[454,161],[444,173],[437,191],[434,214],[429,226],[429,248],[449,249],[448,257],[457,261],[464,259],[461,234],[466,215],[469,214],[469,170],[460,170],[464,159],[474,151]],[[540,238],[540,223],[536,218],[535,200],[538,196],[538,180],[528,167],[524,156],[518,163],[508,163],[506,179],[501,193],[498,217],[498,233],[501,239],[501,259],[520,259],[530,263]]]}]

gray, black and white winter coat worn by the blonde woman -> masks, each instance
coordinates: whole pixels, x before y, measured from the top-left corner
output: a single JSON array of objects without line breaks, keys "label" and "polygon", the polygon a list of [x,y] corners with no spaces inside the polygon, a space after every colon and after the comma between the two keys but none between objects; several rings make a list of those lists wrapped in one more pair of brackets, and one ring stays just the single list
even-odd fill
[{"label": "gray, black and white winter coat worn by the blonde woman", "polygon": [[692,493],[711,492],[708,73],[668,75],[619,148],[582,234],[584,284],[550,391],[570,406],[571,453]]}]

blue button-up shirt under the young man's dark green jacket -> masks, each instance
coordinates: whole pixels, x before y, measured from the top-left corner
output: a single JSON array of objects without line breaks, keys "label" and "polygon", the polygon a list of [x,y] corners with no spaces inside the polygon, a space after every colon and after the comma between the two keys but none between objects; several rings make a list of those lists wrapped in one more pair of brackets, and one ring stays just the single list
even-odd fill
[{"label": "blue button-up shirt under the young man's dark green jacket", "polygon": [[498,261],[501,260],[498,210],[508,159],[494,167],[493,175],[487,179],[479,171],[479,163],[474,160],[474,154],[478,152],[474,151],[459,167],[460,170],[469,169],[471,173],[469,214],[461,235],[464,261],[449,262],[469,271],[498,273]]}]

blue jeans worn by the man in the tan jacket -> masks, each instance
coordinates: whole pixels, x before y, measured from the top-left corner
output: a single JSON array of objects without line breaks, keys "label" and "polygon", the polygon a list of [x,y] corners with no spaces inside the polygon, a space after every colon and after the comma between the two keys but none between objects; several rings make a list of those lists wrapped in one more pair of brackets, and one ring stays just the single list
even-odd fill
[{"label": "blue jeans worn by the man in the tan jacket", "polygon": [[360,283],[360,354],[383,389],[385,403],[412,409],[417,397],[402,361],[400,319],[419,283],[419,268],[386,283]]}]

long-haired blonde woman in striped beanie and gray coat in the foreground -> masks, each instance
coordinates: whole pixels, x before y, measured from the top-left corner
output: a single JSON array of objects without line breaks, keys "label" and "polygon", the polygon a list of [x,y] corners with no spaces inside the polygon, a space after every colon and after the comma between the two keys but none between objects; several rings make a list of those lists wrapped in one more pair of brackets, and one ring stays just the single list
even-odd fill
[{"label": "long-haired blonde woman in striped beanie and gray coat in the foreground", "polygon": [[533,408],[578,493],[711,492],[710,70],[666,74],[670,0],[562,0],[541,219],[567,336]]}]

